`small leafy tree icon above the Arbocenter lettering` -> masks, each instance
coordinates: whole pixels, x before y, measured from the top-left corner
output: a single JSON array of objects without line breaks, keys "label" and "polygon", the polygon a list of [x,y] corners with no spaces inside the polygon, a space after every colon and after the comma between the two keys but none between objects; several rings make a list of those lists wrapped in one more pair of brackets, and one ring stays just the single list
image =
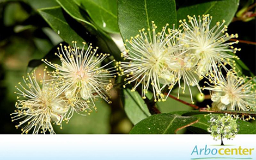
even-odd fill
[{"label": "small leafy tree icon above the Arbocenter lettering", "polygon": [[238,132],[236,119],[232,118],[230,114],[211,116],[208,131],[214,140],[221,139],[221,145],[224,145],[223,138],[235,138]]}]

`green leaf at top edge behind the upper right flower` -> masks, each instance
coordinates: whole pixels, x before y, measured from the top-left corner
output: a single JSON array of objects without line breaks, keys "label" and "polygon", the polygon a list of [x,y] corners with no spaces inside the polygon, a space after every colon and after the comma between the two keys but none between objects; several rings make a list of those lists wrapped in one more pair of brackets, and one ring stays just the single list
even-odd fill
[{"label": "green leaf at top edge behind the upper right flower", "polygon": [[187,15],[203,15],[210,14],[212,16],[211,27],[216,22],[223,20],[228,25],[235,16],[239,5],[239,0],[224,0],[224,1],[183,1],[183,5],[177,10],[177,20],[187,19]]}]

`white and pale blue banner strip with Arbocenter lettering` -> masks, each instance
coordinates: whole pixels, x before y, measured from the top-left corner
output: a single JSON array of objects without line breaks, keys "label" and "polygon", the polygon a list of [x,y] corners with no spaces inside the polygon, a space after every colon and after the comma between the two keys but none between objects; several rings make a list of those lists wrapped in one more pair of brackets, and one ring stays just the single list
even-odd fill
[{"label": "white and pale blue banner strip with Arbocenter lettering", "polygon": [[256,135],[0,135],[0,159],[256,159]]}]

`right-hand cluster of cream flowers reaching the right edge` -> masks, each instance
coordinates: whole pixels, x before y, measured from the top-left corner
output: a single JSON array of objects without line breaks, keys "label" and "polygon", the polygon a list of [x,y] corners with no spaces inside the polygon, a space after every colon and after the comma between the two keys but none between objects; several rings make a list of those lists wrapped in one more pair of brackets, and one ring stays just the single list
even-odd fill
[{"label": "right-hand cluster of cream flowers reaching the right edge", "polygon": [[[179,21],[178,29],[166,24],[161,32],[156,32],[153,21],[152,29],[143,28],[126,40],[126,50],[121,53],[126,61],[117,63],[119,75],[126,75],[123,87],[134,84],[135,91],[142,84],[143,99],[150,89],[156,102],[165,101],[178,83],[178,98],[180,89],[185,93],[188,88],[192,103],[191,87],[197,87],[201,94],[203,89],[211,91],[214,109],[254,110],[255,83],[237,75],[235,59],[239,58],[235,53],[241,49],[232,46],[238,41],[228,42],[237,34],[227,33],[224,20],[210,27],[209,15],[187,17],[188,22]],[[199,86],[203,78],[209,87]]]}]

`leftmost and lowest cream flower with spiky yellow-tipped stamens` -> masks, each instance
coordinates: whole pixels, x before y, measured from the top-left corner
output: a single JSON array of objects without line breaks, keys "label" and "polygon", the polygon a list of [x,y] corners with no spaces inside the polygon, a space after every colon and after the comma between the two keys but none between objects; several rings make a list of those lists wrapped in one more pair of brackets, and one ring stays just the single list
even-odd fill
[{"label": "leftmost and lowest cream flower with spiky yellow-tipped stamens", "polygon": [[[40,76],[40,74],[39,74]],[[21,82],[20,88],[16,87],[15,91],[17,102],[15,104],[17,110],[11,115],[13,120],[20,120],[16,128],[22,127],[22,133],[28,133],[33,130],[33,134],[50,132],[54,133],[51,122],[60,125],[69,110],[68,103],[58,97],[58,93],[49,84],[44,84],[44,77],[41,81],[36,81],[35,71],[27,77],[23,77],[26,86]],[[22,99],[22,100],[21,100]]]}]

